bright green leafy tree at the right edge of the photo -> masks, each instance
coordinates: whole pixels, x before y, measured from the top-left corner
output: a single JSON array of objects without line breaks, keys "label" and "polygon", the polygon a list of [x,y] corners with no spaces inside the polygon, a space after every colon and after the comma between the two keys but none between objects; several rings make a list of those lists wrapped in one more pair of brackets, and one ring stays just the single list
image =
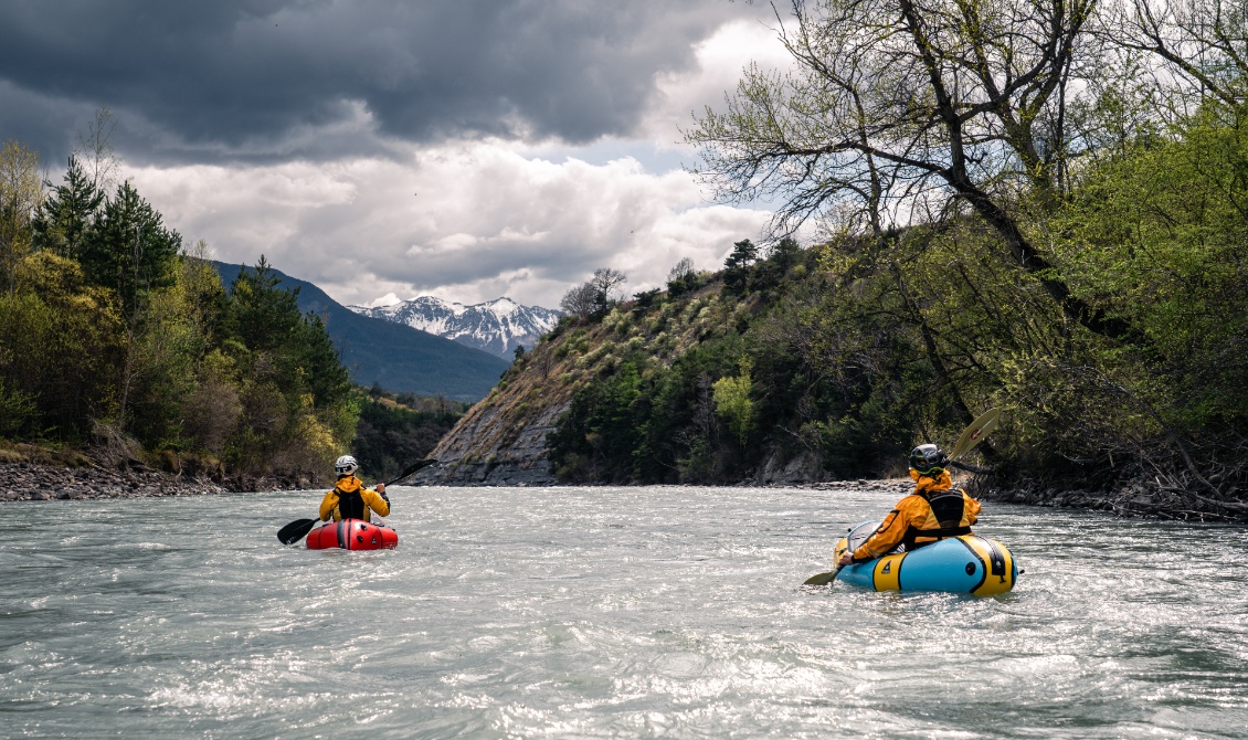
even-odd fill
[{"label": "bright green leafy tree at the right edge of the photo", "polygon": [[1176,134],[1086,172],[1056,223],[1071,283],[1129,313],[1147,352],[1053,357],[1028,408],[1035,427],[1061,414],[1051,439],[1070,457],[1137,459],[1147,444],[1156,467],[1222,499],[1244,474],[1229,460],[1248,429],[1238,392],[1248,383],[1248,124],[1211,100]]}]

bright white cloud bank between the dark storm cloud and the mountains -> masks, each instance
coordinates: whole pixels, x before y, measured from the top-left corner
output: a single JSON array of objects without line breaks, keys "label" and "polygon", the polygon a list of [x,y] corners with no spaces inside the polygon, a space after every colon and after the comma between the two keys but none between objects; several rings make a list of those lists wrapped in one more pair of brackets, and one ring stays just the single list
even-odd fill
[{"label": "bright white cloud bank between the dark storm cloud and the mountains", "polygon": [[629,290],[663,285],[681,257],[714,268],[768,213],[705,205],[681,171],[636,160],[525,157],[461,142],[411,162],[142,168],[140,192],[220,260],[261,253],[343,303],[416,295],[475,303],[508,295],[557,306],[597,267]]}]

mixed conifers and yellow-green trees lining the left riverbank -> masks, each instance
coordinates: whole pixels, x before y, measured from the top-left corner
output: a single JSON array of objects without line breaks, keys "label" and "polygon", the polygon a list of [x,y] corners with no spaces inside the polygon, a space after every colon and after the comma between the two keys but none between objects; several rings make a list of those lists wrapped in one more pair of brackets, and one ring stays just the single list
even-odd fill
[{"label": "mixed conifers and yellow-green trees lining the left riverbank", "polygon": [[459,404],[356,388],[322,318],[301,313],[263,257],[223,285],[206,245],[185,245],[130,182],[111,181],[95,141],[59,185],[22,145],[0,152],[6,462],[86,450],[250,489],[316,484],[357,436],[371,477],[432,449]]}]

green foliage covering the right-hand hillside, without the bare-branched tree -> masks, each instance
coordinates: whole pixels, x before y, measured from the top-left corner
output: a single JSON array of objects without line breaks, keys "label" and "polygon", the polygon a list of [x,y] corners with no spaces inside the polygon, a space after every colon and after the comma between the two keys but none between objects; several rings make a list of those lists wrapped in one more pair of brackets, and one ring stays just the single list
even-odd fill
[{"label": "green foliage covering the right-hand hillside, without the bare-branched tree", "polygon": [[[832,478],[900,474],[915,443],[1000,406],[1008,423],[975,454],[1001,480],[1242,489],[1248,117],[1207,102],[1168,137],[1116,140],[1068,187],[1025,222],[1050,245],[1045,275],[1020,273],[973,215],[761,261],[738,242],[718,291],[688,301],[681,277],[633,306],[646,343],[582,382],[550,437],[557,472],[715,483],[807,455]],[[1133,333],[1072,321],[1052,276]],[[690,327],[698,342],[675,351]],[[555,354],[594,357],[609,336]]]}]

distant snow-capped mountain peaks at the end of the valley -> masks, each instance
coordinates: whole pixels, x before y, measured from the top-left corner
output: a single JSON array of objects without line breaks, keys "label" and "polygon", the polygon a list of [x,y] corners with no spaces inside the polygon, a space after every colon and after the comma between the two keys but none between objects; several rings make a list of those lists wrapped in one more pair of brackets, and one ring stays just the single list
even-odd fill
[{"label": "distant snow-capped mountain peaks at the end of the valley", "polygon": [[540,306],[520,306],[510,298],[464,306],[432,296],[421,296],[393,306],[347,308],[454,339],[461,344],[508,359],[515,352],[517,344],[532,349],[538,337],[553,329],[563,316],[559,311]]}]

